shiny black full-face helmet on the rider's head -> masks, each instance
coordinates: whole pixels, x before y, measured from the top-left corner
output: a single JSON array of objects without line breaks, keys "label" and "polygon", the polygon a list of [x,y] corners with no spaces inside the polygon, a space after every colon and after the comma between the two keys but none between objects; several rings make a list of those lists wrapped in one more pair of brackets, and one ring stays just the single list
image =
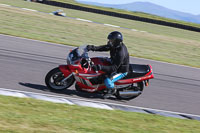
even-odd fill
[{"label": "shiny black full-face helmet on the rider's head", "polygon": [[113,31],[113,32],[111,32],[111,33],[108,35],[108,39],[109,39],[109,40],[113,40],[112,46],[115,46],[115,47],[119,46],[119,44],[120,44],[121,42],[123,42],[123,36],[122,36],[122,34],[121,34],[120,32],[118,32],[118,31]]}]

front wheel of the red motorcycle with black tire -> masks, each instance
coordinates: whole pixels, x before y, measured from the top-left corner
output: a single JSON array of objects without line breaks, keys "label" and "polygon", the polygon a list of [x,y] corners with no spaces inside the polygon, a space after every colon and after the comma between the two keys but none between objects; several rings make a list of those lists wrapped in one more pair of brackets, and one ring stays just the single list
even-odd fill
[{"label": "front wheel of the red motorcycle with black tire", "polygon": [[67,79],[65,78],[64,74],[57,67],[47,73],[45,83],[51,91],[63,91],[69,88],[75,81],[73,75],[67,77]]}]

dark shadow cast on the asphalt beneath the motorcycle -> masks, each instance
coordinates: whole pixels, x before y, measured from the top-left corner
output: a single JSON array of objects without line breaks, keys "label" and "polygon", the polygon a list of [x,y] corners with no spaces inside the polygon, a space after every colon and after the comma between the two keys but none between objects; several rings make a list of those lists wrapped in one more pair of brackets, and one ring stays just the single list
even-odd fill
[{"label": "dark shadow cast on the asphalt beneath the motorcycle", "polygon": [[[79,92],[79,91],[71,90],[71,89],[66,89],[64,91],[55,92],[55,91],[50,91],[44,85],[32,84],[32,83],[22,83],[22,82],[19,82],[19,84],[22,86],[28,87],[28,88],[47,91],[47,92],[49,91],[49,92],[53,92],[53,93],[57,93],[57,94],[65,94],[65,95],[69,95],[69,96],[76,95],[76,96],[83,97],[83,98],[103,99],[102,94],[98,94],[98,93]],[[117,100],[115,97],[110,97],[109,99]]]}]

